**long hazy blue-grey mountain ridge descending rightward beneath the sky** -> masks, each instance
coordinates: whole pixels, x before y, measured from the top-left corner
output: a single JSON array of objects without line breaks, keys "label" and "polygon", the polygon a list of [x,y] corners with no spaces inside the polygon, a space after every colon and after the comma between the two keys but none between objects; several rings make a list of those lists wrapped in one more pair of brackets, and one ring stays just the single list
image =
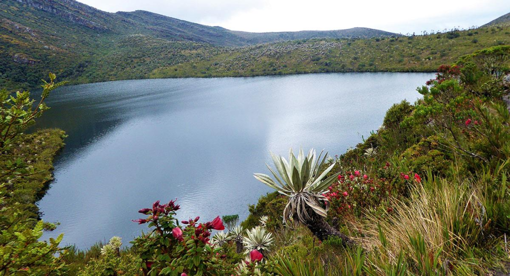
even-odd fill
[{"label": "long hazy blue-grey mountain ridge descending rightward beneath the sky", "polygon": [[[210,43],[216,46],[251,44],[311,38],[370,38],[398,34],[364,27],[331,31],[251,33],[207,26],[153,12],[109,13],[75,0],[8,0],[64,17],[96,31],[155,35],[164,39]],[[113,21],[113,22],[112,22]],[[119,22],[122,22],[119,24]],[[148,33],[146,33],[148,32]]]}]

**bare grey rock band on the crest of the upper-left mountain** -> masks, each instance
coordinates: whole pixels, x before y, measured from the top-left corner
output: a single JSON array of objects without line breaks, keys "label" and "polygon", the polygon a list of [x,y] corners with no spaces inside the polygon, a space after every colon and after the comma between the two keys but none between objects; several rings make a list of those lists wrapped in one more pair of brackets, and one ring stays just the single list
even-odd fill
[{"label": "bare grey rock band on the crest of the upper-left mountain", "polygon": [[[73,14],[69,11],[58,9],[57,7],[58,7],[59,3],[57,3],[54,0],[45,0],[45,1],[43,1],[43,0],[15,0],[15,1],[22,3],[24,5],[28,5],[30,7],[39,9],[39,10],[43,10],[45,12],[53,13],[58,16],[67,18],[71,22],[86,26],[93,30],[99,30],[99,31],[108,30],[108,28],[106,26],[103,26],[97,22],[83,18],[82,16]],[[65,1],[65,3],[70,5],[71,3],[74,3],[74,2]],[[70,6],[72,6],[72,5],[70,5]]]}]

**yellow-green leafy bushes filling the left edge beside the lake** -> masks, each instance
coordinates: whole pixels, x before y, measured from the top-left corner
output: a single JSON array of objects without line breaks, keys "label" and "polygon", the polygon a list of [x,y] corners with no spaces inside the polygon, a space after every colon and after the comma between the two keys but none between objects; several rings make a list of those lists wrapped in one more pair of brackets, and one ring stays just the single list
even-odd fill
[{"label": "yellow-green leafy bushes filling the left edge beside the lake", "polygon": [[65,251],[57,239],[41,241],[44,230],[55,225],[38,220],[36,201],[52,180],[52,160],[63,146],[58,129],[22,134],[47,110],[44,99],[53,89],[55,75],[44,82],[41,100],[34,109],[28,92],[10,96],[0,92],[0,274],[64,274]]}]

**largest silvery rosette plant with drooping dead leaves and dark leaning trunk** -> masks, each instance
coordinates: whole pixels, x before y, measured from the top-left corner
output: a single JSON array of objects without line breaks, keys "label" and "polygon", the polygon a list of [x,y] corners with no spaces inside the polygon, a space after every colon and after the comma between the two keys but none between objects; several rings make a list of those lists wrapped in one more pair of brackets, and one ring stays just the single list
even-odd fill
[{"label": "largest silvery rosette plant with drooping dead leaves and dark leaning trunk", "polygon": [[315,150],[311,149],[305,156],[300,150],[296,158],[290,149],[289,161],[271,153],[278,174],[268,164],[266,165],[276,181],[265,174],[254,174],[254,176],[280,194],[289,197],[284,209],[284,223],[294,218],[307,225],[320,240],[326,240],[334,235],[342,238],[345,243],[353,244],[349,237],[328,225],[324,220],[329,209],[329,202],[323,194],[337,180],[338,174],[326,177],[333,169],[335,162],[321,171],[327,156],[327,153],[325,155],[322,153],[323,151],[317,157]]}]

